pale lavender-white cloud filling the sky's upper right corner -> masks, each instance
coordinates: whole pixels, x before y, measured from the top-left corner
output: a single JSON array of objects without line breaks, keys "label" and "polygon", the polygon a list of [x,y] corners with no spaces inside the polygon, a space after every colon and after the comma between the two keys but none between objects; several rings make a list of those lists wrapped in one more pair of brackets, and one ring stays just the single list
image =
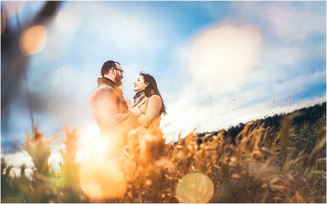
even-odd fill
[{"label": "pale lavender-white cloud filling the sky's upper right corner", "polygon": [[[236,16],[259,20],[271,35],[284,40],[304,40],[311,34],[326,34],[325,2],[234,2]],[[233,13],[233,15],[235,14]]]}]

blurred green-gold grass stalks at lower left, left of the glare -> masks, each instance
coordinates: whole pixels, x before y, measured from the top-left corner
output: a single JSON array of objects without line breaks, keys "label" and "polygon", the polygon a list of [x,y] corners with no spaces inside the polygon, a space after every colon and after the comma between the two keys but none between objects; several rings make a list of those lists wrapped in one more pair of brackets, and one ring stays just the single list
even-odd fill
[{"label": "blurred green-gold grass stalks at lower left, left of the glare", "polygon": [[[67,140],[63,140],[66,148],[61,150],[64,163],[60,171],[48,165],[51,155],[50,144],[56,139],[42,141],[43,134],[38,127],[33,127],[33,135],[26,133],[25,144],[21,146],[32,158],[31,180],[25,176],[26,165],[21,167],[20,176],[10,177],[11,166],[1,161],[1,199],[6,197],[19,198],[24,203],[81,203],[86,202],[86,196],[79,185],[79,168],[75,163],[77,142],[76,130],[70,133],[66,130]],[[6,200],[1,200],[1,202]]]}]

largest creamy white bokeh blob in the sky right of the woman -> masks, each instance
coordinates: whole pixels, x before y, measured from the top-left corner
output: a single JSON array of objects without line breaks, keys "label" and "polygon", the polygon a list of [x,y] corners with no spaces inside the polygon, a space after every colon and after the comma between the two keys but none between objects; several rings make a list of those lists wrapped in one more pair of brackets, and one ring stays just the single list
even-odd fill
[{"label": "largest creamy white bokeh blob in the sky right of the woman", "polygon": [[242,79],[256,62],[262,40],[261,29],[254,25],[224,24],[198,35],[188,51],[189,73],[206,86]]}]

